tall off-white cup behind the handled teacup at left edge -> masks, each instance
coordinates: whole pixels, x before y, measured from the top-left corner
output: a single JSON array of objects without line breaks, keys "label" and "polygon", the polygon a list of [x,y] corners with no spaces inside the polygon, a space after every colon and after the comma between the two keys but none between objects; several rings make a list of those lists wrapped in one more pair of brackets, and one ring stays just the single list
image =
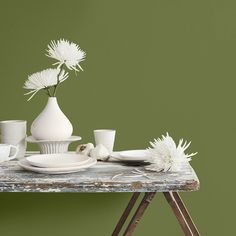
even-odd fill
[{"label": "tall off-white cup behind the handled teacup at left edge", "polygon": [[1,143],[11,144],[19,148],[17,158],[23,158],[26,151],[26,121],[0,121]]}]

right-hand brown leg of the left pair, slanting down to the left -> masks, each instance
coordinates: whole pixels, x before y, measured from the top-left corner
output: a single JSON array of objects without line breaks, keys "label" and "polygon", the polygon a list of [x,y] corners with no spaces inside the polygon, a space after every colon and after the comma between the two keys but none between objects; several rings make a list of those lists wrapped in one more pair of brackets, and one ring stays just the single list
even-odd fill
[{"label": "right-hand brown leg of the left pair, slanting down to the left", "polygon": [[131,219],[127,229],[125,230],[124,236],[131,236],[142,218],[144,211],[147,209],[149,203],[152,201],[156,193],[145,193],[138,209],[136,210],[133,218]]}]

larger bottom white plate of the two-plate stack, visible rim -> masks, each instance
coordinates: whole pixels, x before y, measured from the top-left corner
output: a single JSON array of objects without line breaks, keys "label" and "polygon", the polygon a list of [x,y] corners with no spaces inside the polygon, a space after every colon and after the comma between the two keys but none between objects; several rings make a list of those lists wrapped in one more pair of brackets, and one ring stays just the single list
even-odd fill
[{"label": "larger bottom white plate of the two-plate stack, visible rim", "polygon": [[84,170],[88,167],[91,167],[91,166],[95,165],[96,163],[97,163],[96,159],[90,158],[87,163],[85,163],[84,165],[80,165],[80,166],[59,167],[59,168],[40,168],[40,167],[31,166],[26,159],[20,160],[18,162],[19,166],[21,166],[22,168],[24,168],[26,170],[34,171],[34,172],[41,173],[41,174],[54,174],[54,175],[55,174],[68,174],[68,173],[78,172],[78,171]]}]

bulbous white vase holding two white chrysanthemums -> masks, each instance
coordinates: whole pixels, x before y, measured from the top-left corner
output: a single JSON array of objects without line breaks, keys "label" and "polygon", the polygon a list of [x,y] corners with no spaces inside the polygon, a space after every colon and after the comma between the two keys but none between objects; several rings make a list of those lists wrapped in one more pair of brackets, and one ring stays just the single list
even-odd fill
[{"label": "bulbous white vase holding two white chrysanthemums", "polygon": [[64,140],[72,135],[73,127],[58,106],[57,90],[69,77],[66,69],[83,71],[80,63],[84,61],[86,53],[79,45],[61,39],[48,45],[46,56],[57,60],[53,64],[57,65],[57,68],[36,72],[30,75],[24,84],[24,88],[30,90],[25,94],[30,95],[28,101],[39,91],[44,91],[49,97],[46,107],[32,123],[31,133],[38,140]]}]

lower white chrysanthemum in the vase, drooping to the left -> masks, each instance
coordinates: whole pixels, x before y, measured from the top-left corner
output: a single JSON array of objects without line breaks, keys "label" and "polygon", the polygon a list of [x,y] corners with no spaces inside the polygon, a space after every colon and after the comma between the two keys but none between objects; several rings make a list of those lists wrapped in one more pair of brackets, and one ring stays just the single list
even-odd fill
[{"label": "lower white chrysanthemum in the vase, drooping to the left", "polygon": [[64,70],[62,70],[60,74],[59,73],[59,69],[46,69],[29,75],[23,86],[24,89],[31,90],[25,94],[32,94],[28,101],[41,89],[47,89],[55,86],[58,84],[58,82],[62,83],[68,78],[68,73],[66,73]]}]

